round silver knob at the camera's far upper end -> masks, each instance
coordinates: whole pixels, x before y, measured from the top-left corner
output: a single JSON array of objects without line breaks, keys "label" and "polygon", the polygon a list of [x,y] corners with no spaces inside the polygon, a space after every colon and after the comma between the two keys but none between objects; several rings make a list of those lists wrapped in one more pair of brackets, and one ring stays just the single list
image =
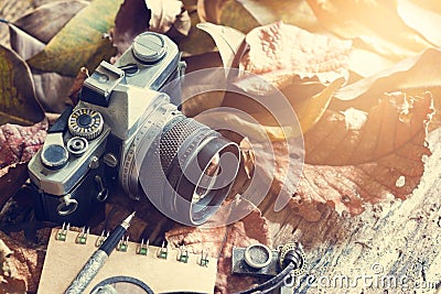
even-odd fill
[{"label": "round silver knob at the camera's far upper end", "polygon": [[165,55],[166,45],[161,35],[146,32],[133,40],[132,52],[143,63],[155,63]]}]

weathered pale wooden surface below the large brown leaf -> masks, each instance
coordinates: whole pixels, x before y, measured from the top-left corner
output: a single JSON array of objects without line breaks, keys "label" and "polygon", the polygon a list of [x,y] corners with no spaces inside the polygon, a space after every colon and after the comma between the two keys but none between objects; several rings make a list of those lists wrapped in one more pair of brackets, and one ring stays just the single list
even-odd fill
[{"label": "weathered pale wooden surface below the large brown leaf", "polygon": [[405,202],[391,196],[359,216],[329,211],[318,222],[261,207],[275,244],[298,240],[304,247],[308,265],[299,293],[441,293],[441,130],[429,142],[433,154]]}]

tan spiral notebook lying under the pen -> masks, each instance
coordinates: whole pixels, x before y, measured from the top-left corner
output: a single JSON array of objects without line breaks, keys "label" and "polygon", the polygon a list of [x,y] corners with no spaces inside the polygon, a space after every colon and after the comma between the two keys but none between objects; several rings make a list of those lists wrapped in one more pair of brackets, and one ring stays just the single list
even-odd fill
[{"label": "tan spiral notebook lying under the pen", "polygon": [[[53,229],[37,293],[64,293],[104,238]],[[217,260],[206,254],[122,240],[84,293],[107,283],[118,294],[148,293],[133,291],[133,281],[148,285],[153,293],[213,293],[216,272]]]}]

